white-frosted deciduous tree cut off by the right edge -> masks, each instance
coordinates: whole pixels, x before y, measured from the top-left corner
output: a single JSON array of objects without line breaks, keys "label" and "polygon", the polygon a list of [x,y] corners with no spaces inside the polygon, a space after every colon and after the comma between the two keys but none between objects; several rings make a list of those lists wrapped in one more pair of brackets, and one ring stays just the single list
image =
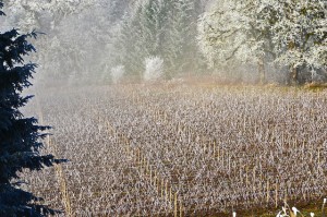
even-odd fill
[{"label": "white-frosted deciduous tree cut off by the right edge", "polygon": [[[325,71],[327,60],[327,2],[325,0],[276,1],[275,33],[277,61],[290,68],[290,81],[299,82],[303,70]],[[326,76],[326,75],[325,75]]]}]

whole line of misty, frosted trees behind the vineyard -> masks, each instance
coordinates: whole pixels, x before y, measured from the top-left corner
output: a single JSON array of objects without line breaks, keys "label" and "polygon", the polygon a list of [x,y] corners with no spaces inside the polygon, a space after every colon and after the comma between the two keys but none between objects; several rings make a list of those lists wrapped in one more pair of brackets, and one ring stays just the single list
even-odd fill
[{"label": "whole line of misty, frosted trees behind the vineyard", "polygon": [[[108,83],[216,74],[223,82],[326,80],[326,0],[9,0],[4,26],[37,29],[45,76]],[[155,68],[156,69],[156,68]],[[66,80],[69,77],[69,80]]]}]

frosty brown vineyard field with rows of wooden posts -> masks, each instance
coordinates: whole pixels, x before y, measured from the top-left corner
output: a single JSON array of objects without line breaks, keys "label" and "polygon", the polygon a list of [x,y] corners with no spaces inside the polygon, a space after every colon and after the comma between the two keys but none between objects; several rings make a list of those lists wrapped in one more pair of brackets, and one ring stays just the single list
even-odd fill
[{"label": "frosty brown vineyard field with rows of wooden posts", "polygon": [[72,216],[230,215],[325,196],[327,92],[258,88],[38,94],[49,149],[71,162],[26,179]]}]

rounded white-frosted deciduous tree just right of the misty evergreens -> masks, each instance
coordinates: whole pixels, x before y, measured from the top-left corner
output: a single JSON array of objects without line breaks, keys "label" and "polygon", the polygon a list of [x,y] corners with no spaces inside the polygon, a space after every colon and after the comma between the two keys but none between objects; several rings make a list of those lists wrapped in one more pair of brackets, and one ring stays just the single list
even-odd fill
[{"label": "rounded white-frosted deciduous tree just right of the misty evergreens", "polygon": [[257,65],[265,81],[265,59],[275,58],[274,13],[256,0],[219,0],[198,22],[198,44],[210,67]]}]

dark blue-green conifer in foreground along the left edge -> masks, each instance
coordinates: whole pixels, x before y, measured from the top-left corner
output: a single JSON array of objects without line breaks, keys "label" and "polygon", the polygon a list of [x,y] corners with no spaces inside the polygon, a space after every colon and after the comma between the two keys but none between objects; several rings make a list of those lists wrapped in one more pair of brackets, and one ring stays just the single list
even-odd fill
[{"label": "dark blue-green conifer in foreground along the left edge", "polygon": [[[0,15],[3,7],[0,0]],[[41,205],[41,198],[20,189],[17,176],[24,168],[41,170],[59,162],[52,155],[41,156],[40,142],[48,126],[37,125],[35,118],[24,118],[20,108],[32,96],[22,91],[32,84],[36,64],[24,63],[24,56],[35,51],[26,39],[35,33],[21,35],[16,29],[0,33],[0,216],[46,216],[56,212]]]}]

